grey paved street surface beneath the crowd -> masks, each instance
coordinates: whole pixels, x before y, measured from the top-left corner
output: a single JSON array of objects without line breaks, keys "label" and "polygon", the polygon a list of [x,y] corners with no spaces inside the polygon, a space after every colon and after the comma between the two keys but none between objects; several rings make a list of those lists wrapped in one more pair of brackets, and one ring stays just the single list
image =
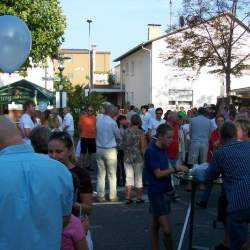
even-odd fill
[{"label": "grey paved street surface beneath the crowd", "polygon": [[[96,178],[92,176],[95,187]],[[223,235],[222,225],[218,224],[213,229],[213,220],[216,218],[216,202],[220,187],[215,187],[210,199],[208,209],[196,208],[194,245],[212,248],[217,245]],[[185,186],[178,187],[180,200],[173,203],[172,222],[174,228],[175,249],[177,249],[181,229],[184,223],[190,193],[185,191]],[[200,192],[197,194],[199,197]],[[95,250],[149,250],[150,239],[148,225],[150,215],[148,203],[124,204],[124,189],[119,188],[121,202],[111,204],[95,203],[91,216],[91,232]],[[146,198],[146,195],[145,195]],[[159,249],[163,249],[161,246]],[[187,237],[184,246],[187,249]]]}]

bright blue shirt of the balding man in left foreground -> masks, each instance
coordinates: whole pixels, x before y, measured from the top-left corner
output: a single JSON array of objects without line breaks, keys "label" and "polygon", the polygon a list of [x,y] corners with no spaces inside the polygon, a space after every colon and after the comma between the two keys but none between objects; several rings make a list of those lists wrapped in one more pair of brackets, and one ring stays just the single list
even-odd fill
[{"label": "bright blue shirt of the balding man in left foreground", "polygon": [[0,249],[60,249],[73,201],[68,169],[27,144],[2,149],[0,166]]}]

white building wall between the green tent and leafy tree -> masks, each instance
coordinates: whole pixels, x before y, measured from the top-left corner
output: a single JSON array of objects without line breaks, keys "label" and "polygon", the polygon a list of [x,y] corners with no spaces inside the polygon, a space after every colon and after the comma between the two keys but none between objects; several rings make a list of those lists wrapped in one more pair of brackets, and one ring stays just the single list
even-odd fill
[{"label": "white building wall between the green tent and leafy tree", "polygon": [[47,65],[48,65],[47,69],[45,67],[28,68],[27,76],[25,77],[21,76],[18,73],[13,73],[13,74],[0,73],[0,87],[22,79],[26,79],[27,81],[35,83],[50,91],[53,91],[53,81],[43,80],[43,77],[54,77],[53,62],[50,59],[48,59]]}]

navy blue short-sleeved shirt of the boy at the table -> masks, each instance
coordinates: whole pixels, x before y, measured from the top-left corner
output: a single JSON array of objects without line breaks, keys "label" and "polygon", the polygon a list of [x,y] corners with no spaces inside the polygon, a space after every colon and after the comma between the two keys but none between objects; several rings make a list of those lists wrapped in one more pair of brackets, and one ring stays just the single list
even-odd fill
[{"label": "navy blue short-sleeved shirt of the boy at the table", "polygon": [[156,169],[166,170],[169,168],[165,148],[159,148],[155,142],[152,142],[145,153],[145,168],[149,183],[148,193],[162,194],[173,190],[171,176],[157,179],[154,174]]}]

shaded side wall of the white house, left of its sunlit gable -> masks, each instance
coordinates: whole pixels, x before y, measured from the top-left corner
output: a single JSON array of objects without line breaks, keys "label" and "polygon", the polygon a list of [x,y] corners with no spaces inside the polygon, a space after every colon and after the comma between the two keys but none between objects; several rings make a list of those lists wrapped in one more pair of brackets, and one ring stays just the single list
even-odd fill
[{"label": "shaded side wall of the white house, left of its sunlit gable", "polygon": [[120,65],[126,102],[136,107],[149,103],[151,100],[150,52],[141,49],[121,60]]}]

